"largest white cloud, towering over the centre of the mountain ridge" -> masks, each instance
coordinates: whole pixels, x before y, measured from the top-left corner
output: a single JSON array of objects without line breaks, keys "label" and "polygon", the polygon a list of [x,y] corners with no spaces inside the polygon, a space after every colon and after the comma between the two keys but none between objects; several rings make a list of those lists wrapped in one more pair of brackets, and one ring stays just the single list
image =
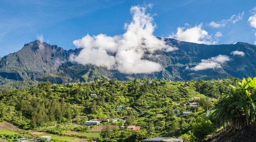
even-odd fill
[{"label": "largest white cloud, towering over the centre of the mountain ridge", "polygon": [[151,14],[145,13],[146,8],[132,6],[131,23],[125,23],[126,32],[122,35],[97,36],[86,35],[82,39],[73,41],[76,47],[83,49],[78,56],[71,56],[70,61],[80,64],[93,64],[118,70],[122,73],[151,73],[162,70],[159,63],[143,59],[145,52],[151,54],[156,50],[174,51],[177,47],[166,45],[163,39],[153,35],[156,24]]}]

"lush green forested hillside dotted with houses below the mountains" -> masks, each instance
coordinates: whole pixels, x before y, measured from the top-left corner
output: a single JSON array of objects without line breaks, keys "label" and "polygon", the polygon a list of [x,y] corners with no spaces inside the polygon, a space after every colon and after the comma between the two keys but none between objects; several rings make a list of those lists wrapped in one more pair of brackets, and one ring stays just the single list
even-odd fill
[{"label": "lush green forested hillside dotted with houses below the mountains", "polygon": [[[64,125],[84,125],[86,120],[119,118],[126,120],[126,123],[103,124],[119,127],[101,133],[98,138],[103,138],[102,142],[140,142],[141,139],[153,136],[175,136],[190,142],[201,141],[218,126],[215,119],[207,117],[207,109],[211,110],[221,93],[230,91],[231,86],[237,85],[237,81],[237,78],[183,82],[155,79],[118,81],[104,78],[86,84],[40,83],[23,90],[1,91],[0,121],[10,122],[25,130],[51,134],[85,131],[86,136],[83,136],[88,138],[94,135],[87,132],[87,127],[76,129]],[[91,97],[90,94],[96,94],[97,97]],[[200,97],[200,100],[194,97]],[[183,111],[191,113],[184,115]],[[52,127],[56,124],[57,127]],[[126,130],[129,125],[140,126],[140,131]],[[109,128],[105,129],[108,131]],[[4,136],[7,138],[9,135]]]}]

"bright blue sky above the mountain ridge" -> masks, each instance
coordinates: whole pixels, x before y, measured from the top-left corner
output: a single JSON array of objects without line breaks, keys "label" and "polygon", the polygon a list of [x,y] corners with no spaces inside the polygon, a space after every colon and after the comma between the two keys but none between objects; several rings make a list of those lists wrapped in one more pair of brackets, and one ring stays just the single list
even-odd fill
[{"label": "bright blue sky above the mountain ridge", "polygon": [[[255,0],[1,0],[0,56],[20,50],[40,34],[44,42],[66,50],[76,48],[73,41],[87,33],[123,34],[124,24],[132,20],[131,6],[149,3],[153,7],[146,12],[155,14],[155,36],[206,44],[254,44],[256,39],[256,25],[248,22]],[[204,39],[189,39],[198,32]]]}]

